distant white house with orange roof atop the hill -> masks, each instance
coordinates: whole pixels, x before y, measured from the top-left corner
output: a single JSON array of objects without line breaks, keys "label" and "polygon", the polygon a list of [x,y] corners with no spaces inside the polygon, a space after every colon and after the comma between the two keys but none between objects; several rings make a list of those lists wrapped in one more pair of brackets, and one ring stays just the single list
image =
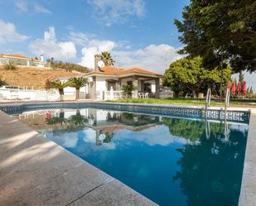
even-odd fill
[{"label": "distant white house with orange roof atop the hill", "polygon": [[36,60],[25,55],[0,55],[0,65],[7,65],[8,63],[22,66],[49,66],[49,63],[44,60],[44,55],[40,56],[40,60]]}]

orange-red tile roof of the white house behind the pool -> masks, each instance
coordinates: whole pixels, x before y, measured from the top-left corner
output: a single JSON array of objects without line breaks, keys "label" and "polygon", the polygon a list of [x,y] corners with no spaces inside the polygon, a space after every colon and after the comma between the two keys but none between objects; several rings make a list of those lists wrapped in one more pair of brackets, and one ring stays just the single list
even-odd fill
[{"label": "orange-red tile roof of the white house behind the pool", "polygon": [[152,72],[146,69],[140,69],[134,67],[132,69],[123,69],[115,66],[105,66],[102,70],[94,70],[89,74],[107,74],[107,75],[124,75],[124,74],[147,74],[153,76],[161,76],[156,72]]}]

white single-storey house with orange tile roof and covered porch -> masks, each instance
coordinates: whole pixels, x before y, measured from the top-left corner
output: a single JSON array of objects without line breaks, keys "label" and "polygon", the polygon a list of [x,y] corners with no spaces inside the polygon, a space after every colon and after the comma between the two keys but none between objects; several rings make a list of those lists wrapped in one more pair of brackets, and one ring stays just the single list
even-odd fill
[{"label": "white single-storey house with orange tile roof and covered porch", "polygon": [[159,98],[159,83],[161,74],[146,69],[123,69],[105,66],[102,69],[84,75],[88,79],[85,86],[87,98],[116,99],[123,98],[123,85],[133,84],[133,98],[140,98],[147,94],[147,98]]}]

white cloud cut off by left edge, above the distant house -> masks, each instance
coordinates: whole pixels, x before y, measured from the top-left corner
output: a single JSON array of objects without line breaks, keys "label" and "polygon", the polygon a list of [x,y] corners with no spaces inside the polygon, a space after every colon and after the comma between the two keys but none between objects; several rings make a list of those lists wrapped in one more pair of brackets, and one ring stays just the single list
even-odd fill
[{"label": "white cloud cut off by left edge, above the distant house", "polygon": [[16,27],[11,22],[4,22],[0,19],[0,44],[25,41],[29,37],[21,35],[16,31]]}]

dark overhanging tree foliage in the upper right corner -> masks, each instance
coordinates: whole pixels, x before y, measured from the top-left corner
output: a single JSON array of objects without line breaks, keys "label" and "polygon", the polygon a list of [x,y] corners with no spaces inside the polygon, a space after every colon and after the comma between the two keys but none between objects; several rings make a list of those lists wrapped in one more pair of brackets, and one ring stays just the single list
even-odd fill
[{"label": "dark overhanging tree foliage in the upper right corner", "polygon": [[[239,72],[256,70],[256,2],[191,0],[184,7],[183,20],[175,20],[182,54],[203,57],[207,68],[220,69],[229,60]],[[224,66],[225,67],[225,66]]]}]

